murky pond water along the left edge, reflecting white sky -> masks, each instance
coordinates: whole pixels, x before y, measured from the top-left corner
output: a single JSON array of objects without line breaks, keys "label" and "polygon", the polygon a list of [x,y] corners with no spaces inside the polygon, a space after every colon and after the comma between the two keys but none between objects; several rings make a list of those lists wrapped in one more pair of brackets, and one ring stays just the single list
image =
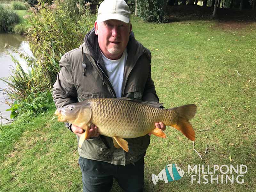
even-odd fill
[{"label": "murky pond water along the left edge, reflecting white sky", "polygon": [[[7,45],[6,48],[5,45]],[[32,56],[33,53],[29,49],[28,42],[25,40],[24,36],[11,34],[11,33],[0,33],[0,77],[8,77],[10,76],[11,69],[15,68],[15,64],[12,61],[11,56],[7,53],[10,52],[12,56],[14,56],[19,62],[21,67],[24,69],[24,71],[28,71],[27,65],[24,60],[22,60],[19,57],[18,53],[13,52],[14,50],[19,50],[20,52],[27,53],[29,56]],[[0,88],[5,89],[7,88],[6,84],[4,84],[3,81],[0,80]],[[10,108],[9,105],[5,103],[5,98],[7,96],[3,95],[2,92],[0,92],[0,112],[2,113],[2,116],[5,118],[10,119],[10,111],[5,111],[6,109]],[[0,114],[1,115],[1,114]],[[5,124],[8,123],[5,119],[0,119],[0,121]]]}]

